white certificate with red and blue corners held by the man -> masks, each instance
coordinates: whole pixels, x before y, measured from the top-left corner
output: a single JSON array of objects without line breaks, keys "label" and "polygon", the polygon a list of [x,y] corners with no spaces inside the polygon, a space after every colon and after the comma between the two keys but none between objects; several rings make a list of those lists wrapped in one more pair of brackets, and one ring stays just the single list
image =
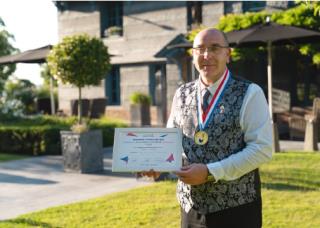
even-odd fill
[{"label": "white certificate with red and blue corners held by the man", "polygon": [[179,128],[116,128],[112,171],[177,171],[182,166]]}]

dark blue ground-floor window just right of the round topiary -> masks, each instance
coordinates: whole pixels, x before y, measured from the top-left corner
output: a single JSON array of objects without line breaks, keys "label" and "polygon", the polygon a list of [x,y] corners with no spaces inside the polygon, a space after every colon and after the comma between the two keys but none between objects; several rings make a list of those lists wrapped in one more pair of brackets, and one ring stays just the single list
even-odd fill
[{"label": "dark blue ground-floor window just right of the round topiary", "polygon": [[120,105],[120,69],[112,66],[110,73],[105,79],[105,94],[108,105]]}]

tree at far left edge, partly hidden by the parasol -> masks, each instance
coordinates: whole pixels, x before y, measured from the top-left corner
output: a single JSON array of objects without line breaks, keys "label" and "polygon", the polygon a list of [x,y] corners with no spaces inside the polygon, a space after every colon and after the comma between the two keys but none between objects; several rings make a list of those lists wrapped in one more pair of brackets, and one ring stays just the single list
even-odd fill
[{"label": "tree at far left edge, partly hidden by the parasol", "polygon": [[[14,37],[5,29],[5,23],[0,18],[0,56],[10,55],[18,51],[10,44]],[[16,70],[15,64],[0,64],[0,94],[8,77]]]}]

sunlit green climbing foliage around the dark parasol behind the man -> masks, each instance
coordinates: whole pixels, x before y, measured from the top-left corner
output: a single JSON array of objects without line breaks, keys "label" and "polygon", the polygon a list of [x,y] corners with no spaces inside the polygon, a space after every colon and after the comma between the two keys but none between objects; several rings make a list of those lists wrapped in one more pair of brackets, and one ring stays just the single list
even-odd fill
[{"label": "sunlit green climbing foliage around the dark parasol behind the man", "polygon": [[[310,4],[300,3],[296,7],[293,7],[284,11],[277,12],[255,12],[255,13],[244,13],[244,14],[228,14],[222,16],[219,23],[216,24],[215,28],[218,28],[224,32],[230,32],[234,30],[245,29],[254,26],[259,23],[265,23],[267,16],[270,16],[271,21],[282,24],[292,25],[298,27],[304,27],[312,30],[320,30],[320,16],[317,10],[320,7],[320,2],[311,2]],[[191,31],[187,35],[187,39],[193,42],[195,35],[199,32],[199,29]],[[235,48],[232,52],[234,61],[240,59],[247,59],[255,61],[255,57],[258,52],[265,51],[264,47],[258,49],[248,48]],[[313,63],[320,65],[320,45],[319,44],[305,44],[299,45],[299,51],[302,55],[311,55]]]}]

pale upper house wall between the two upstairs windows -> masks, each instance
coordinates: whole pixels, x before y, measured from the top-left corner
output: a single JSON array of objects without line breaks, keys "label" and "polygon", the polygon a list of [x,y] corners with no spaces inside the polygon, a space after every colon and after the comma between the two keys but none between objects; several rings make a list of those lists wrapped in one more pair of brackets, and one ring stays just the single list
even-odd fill
[{"label": "pale upper house wall between the two upstairs windows", "polygon": [[125,2],[123,36],[104,39],[114,64],[154,59],[180,33],[186,32],[185,2]]}]

